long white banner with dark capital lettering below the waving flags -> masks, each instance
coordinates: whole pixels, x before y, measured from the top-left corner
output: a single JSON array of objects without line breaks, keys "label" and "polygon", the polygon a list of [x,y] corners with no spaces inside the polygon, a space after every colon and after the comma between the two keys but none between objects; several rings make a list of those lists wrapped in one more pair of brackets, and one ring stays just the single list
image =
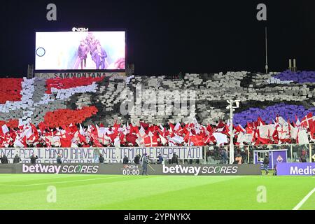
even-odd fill
[{"label": "long white banner with dark capital lettering below the waving flags", "polygon": [[55,163],[57,155],[61,156],[64,163],[93,163],[94,158],[99,158],[99,154],[104,156],[106,163],[122,163],[127,156],[134,162],[134,157],[138,154],[148,156],[156,160],[161,154],[165,160],[172,159],[173,153],[179,156],[180,160],[202,160],[202,147],[131,147],[131,148],[0,148],[0,156],[6,155],[8,161],[13,163],[13,159],[18,154],[22,163],[29,163],[31,155],[38,156],[38,163]]}]

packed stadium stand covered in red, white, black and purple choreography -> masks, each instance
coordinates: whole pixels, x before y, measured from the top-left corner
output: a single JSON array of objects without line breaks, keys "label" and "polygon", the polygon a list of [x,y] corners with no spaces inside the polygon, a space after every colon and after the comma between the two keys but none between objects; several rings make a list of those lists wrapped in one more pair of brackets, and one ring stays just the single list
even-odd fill
[{"label": "packed stadium stand covered in red, white, black and purple choreography", "polygon": [[[126,132],[127,127],[132,125],[137,127],[138,131],[134,130],[137,135],[141,130],[140,123],[146,123],[151,130],[147,127],[142,132],[146,132],[146,135],[151,132],[161,144],[164,140],[160,139],[159,134],[166,139],[165,145],[172,145],[169,144],[169,137],[185,139],[193,130],[195,133],[189,136],[202,136],[200,139],[197,137],[193,143],[195,146],[218,144],[215,133],[225,134],[227,140],[224,140],[223,144],[228,144],[230,110],[226,109],[227,100],[238,99],[240,106],[234,112],[233,123],[234,127],[239,129],[234,137],[235,144],[283,144],[298,141],[299,134],[302,136],[300,142],[307,142],[312,141],[314,137],[314,87],[314,71],[186,74],[183,79],[178,80],[169,80],[166,76],[118,75],[64,79],[3,78],[0,82],[0,126],[3,127],[0,139],[3,143],[6,134],[11,131],[20,130],[22,133],[25,128],[31,129],[30,124],[35,127],[31,129],[31,134],[34,134],[35,129],[43,134],[44,130],[53,133],[68,130],[69,127],[76,127],[77,132],[80,131],[78,125],[82,125],[83,129],[85,127],[84,132],[88,129],[97,130],[97,125],[108,127],[109,133],[113,134],[123,127]],[[120,126],[112,129],[114,124]],[[186,128],[185,133],[175,134],[176,130],[172,130],[172,125],[180,125],[179,129]],[[265,127],[268,125],[272,127]],[[170,132],[165,136],[158,133],[158,130]],[[260,130],[260,133],[257,130]],[[276,137],[275,130],[286,131],[288,136]],[[241,137],[239,133],[242,133]],[[126,133],[124,137],[120,134],[116,134],[116,137],[118,135],[121,146],[146,145],[130,145],[123,141]],[[218,138],[222,140],[225,137]],[[96,139],[100,141],[99,135]],[[111,139],[109,144],[103,144],[101,141],[99,146],[114,146],[115,139]],[[184,142],[190,144],[188,137],[182,141],[183,139],[180,139],[181,143],[175,142],[174,146],[181,146]],[[86,144],[80,141],[79,145],[87,146],[88,142],[85,139]],[[2,147],[5,145],[8,144],[3,143]]]}]

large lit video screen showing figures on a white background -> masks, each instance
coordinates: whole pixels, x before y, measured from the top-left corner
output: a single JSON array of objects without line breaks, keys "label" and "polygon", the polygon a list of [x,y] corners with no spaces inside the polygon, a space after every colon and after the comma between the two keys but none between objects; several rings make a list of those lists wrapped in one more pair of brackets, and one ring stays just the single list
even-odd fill
[{"label": "large lit video screen showing figures on a white background", "polygon": [[125,70],[125,31],[36,32],[35,70]]}]

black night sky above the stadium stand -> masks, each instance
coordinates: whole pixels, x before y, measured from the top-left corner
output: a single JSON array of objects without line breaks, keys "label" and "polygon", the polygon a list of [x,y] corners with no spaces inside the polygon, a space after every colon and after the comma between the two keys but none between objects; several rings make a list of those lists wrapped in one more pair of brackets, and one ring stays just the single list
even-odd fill
[{"label": "black night sky above the stadium stand", "polygon": [[[46,20],[48,3],[57,21]],[[267,22],[256,20],[258,3]],[[138,75],[283,71],[295,57],[315,70],[315,1],[1,1],[0,76],[27,76],[34,64],[34,31],[126,29],[127,60]]]}]

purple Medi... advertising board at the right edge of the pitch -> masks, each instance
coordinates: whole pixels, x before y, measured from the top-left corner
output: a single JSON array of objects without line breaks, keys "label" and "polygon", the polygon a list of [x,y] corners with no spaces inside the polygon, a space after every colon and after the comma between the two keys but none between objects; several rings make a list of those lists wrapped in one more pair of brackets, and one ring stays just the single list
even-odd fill
[{"label": "purple Medi... advertising board at the right edge of the pitch", "polygon": [[276,175],[285,176],[312,176],[315,175],[315,163],[278,163],[276,165]]}]

